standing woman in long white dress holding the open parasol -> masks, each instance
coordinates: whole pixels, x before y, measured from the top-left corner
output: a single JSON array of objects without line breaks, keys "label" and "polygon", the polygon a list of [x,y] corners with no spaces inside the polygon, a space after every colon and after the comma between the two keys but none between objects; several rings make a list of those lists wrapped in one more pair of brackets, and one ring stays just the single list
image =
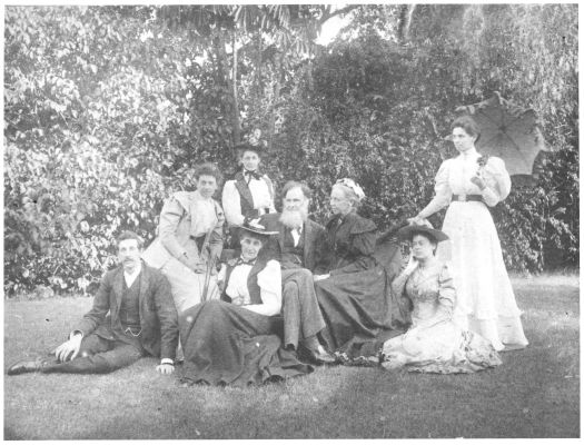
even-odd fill
[{"label": "standing woman in long white dress holding the open parasol", "polygon": [[497,350],[523,348],[528,342],[522,313],[487,208],[508,196],[511,178],[501,158],[486,159],[476,151],[479,130],[471,117],[457,118],[451,128],[459,155],[442,164],[434,199],[409,222],[422,224],[448,206],[442,229],[452,243],[438,246],[437,255],[452,265],[457,289],[454,320],[487,338]]}]

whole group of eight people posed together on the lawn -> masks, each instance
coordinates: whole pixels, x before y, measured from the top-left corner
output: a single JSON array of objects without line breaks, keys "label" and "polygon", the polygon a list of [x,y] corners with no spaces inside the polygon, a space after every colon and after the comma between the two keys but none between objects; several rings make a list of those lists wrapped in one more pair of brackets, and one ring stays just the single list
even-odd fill
[{"label": "whole group of eight people posed together on the lawn", "polygon": [[[472,118],[453,122],[459,155],[394,234],[409,257],[396,248],[389,261],[376,225],[358,214],[365,191],[353,179],[333,185],[321,226],[308,218],[304,182],[281,188],[276,211],[259,146],[239,146],[242,167],[220,204],[220,171],[198,166],[196,190],[166,200],[146,250],[136,234],[120,236],[120,266],[69,339],[8,374],[107,373],[145,355],[160,357],[162,374],[182,362],[185,386],[260,384],[333,364],[443,374],[499,365],[501,352],[527,339],[488,210],[511,179],[499,158],[477,152],[478,138]],[[438,230],[427,218],[444,207]]]}]

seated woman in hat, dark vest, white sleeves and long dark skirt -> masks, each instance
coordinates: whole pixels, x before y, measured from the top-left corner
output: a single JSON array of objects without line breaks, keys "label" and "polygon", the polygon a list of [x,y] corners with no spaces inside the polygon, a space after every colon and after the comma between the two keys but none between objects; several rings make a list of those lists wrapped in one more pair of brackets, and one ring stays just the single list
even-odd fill
[{"label": "seated woman in hat, dark vest, white sleeves and long dark skirt", "polygon": [[219,273],[221,300],[201,303],[181,315],[185,386],[245,386],[313,370],[281,347],[280,265],[258,256],[268,236],[277,233],[249,225],[238,233],[241,256]]}]

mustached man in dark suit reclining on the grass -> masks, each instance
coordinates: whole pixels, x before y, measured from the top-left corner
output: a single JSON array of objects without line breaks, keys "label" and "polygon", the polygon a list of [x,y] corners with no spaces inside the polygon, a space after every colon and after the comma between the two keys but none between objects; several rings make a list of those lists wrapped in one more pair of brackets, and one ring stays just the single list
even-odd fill
[{"label": "mustached man in dark suit reclining on the grass", "polygon": [[170,284],[160,271],[142,263],[140,254],[138,235],[123,231],[118,238],[120,266],[103,276],[92,309],[73,328],[69,340],[55,349],[55,358],[18,362],[8,375],[37,370],[110,373],[145,355],[162,357],[156,370],[171,374],[178,315]]}]

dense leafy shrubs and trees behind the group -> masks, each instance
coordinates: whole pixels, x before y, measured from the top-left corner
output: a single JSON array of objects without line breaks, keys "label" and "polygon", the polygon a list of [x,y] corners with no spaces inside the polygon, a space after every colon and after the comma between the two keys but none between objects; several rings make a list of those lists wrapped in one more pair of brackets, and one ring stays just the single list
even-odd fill
[{"label": "dense leafy shrubs and trees behind the group", "polygon": [[350,176],[386,228],[432,198],[454,109],[494,91],[535,109],[551,149],[492,210],[505,263],[578,267],[576,4],[7,7],[4,24],[9,297],[91,291],[116,234],[151,240],[191,168],[229,176],[256,129],[315,218]]}]

